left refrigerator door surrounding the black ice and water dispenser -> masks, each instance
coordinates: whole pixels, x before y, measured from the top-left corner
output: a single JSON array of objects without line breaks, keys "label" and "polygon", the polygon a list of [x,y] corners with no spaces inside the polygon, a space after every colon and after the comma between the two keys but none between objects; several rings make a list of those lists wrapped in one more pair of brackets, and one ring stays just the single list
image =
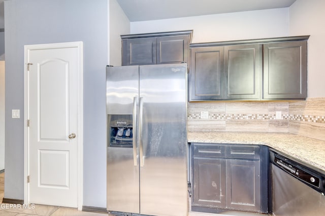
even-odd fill
[{"label": "left refrigerator door surrounding the black ice and water dispenser", "polygon": [[[139,162],[136,139],[134,148],[110,147],[111,115],[133,115],[136,136],[137,98],[139,94],[139,66],[107,67],[107,209],[140,213]],[[135,99],[136,98],[136,99]],[[134,155],[137,154],[137,155]]]}]

